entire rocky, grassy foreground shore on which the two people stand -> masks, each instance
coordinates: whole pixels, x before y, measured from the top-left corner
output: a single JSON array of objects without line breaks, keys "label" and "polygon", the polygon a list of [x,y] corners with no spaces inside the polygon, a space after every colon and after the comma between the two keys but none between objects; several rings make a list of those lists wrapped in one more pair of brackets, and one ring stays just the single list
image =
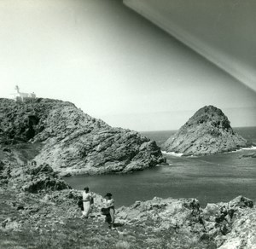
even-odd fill
[{"label": "entire rocky, grassy foreground shore on which the two people stand", "polygon": [[0,248],[255,248],[256,209],[238,196],[201,208],[195,199],[137,201],[116,210],[115,229],[104,223],[94,194],[81,218],[79,190],[49,165],[0,164]]}]

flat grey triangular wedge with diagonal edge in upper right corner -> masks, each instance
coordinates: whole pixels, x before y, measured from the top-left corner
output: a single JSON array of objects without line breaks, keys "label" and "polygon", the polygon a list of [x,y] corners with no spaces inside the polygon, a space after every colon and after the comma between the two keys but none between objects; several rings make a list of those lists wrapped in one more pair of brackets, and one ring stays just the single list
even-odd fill
[{"label": "flat grey triangular wedge with diagonal edge in upper right corner", "polygon": [[125,4],[256,90],[256,1],[124,0]]}]

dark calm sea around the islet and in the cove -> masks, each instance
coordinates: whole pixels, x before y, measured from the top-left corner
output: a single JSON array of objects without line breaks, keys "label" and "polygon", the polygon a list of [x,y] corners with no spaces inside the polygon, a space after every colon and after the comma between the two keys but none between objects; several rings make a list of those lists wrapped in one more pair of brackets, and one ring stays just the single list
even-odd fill
[{"label": "dark calm sea around the islet and in the cove", "polygon": [[[256,144],[256,127],[234,128]],[[165,142],[176,130],[145,131],[144,136]],[[229,201],[238,195],[256,201],[256,158],[242,157],[256,153],[256,147],[200,157],[166,153],[167,164],[123,175],[73,176],[65,180],[76,189],[105,195],[113,194],[115,206],[131,206],[137,200],[195,198],[201,206]]]}]

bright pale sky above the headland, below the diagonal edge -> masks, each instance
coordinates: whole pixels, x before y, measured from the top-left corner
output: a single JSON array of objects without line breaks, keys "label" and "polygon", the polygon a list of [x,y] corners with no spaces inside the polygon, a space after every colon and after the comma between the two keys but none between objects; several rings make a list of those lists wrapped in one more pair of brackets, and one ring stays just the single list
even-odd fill
[{"label": "bright pale sky above the headland, below the diagonal edge", "polygon": [[256,126],[256,93],[119,0],[1,0],[0,97],[35,92],[131,130],[214,105]]}]

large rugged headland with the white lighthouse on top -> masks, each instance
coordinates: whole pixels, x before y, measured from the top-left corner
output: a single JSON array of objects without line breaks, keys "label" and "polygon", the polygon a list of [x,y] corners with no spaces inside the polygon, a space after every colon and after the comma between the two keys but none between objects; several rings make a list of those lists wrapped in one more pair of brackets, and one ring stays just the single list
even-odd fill
[{"label": "large rugged headland with the white lighthouse on top", "polygon": [[0,117],[2,145],[30,143],[38,164],[61,174],[138,171],[165,161],[147,137],[113,128],[67,101],[0,99]]}]

